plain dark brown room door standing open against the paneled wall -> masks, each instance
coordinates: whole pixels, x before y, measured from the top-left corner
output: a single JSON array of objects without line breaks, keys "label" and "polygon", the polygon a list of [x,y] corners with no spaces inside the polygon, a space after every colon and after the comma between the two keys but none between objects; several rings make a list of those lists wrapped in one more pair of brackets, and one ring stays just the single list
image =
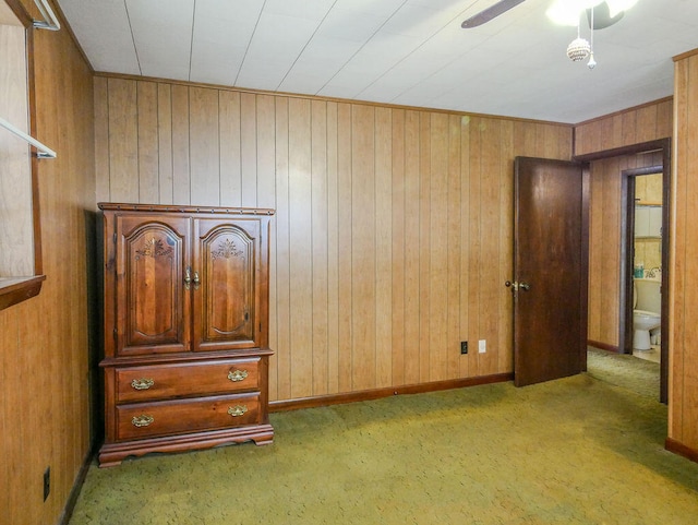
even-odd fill
[{"label": "plain dark brown room door standing open against the paneled wall", "polygon": [[514,382],[586,369],[588,175],[582,165],[515,162]]}]

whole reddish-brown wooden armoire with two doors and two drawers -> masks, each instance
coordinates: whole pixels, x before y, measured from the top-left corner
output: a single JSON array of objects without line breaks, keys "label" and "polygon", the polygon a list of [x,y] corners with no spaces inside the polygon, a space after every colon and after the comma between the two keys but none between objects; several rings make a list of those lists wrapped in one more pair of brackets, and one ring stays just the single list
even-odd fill
[{"label": "whole reddish-brown wooden armoire with two doors and two drawers", "polygon": [[105,443],[127,456],[270,443],[273,210],[100,203]]}]

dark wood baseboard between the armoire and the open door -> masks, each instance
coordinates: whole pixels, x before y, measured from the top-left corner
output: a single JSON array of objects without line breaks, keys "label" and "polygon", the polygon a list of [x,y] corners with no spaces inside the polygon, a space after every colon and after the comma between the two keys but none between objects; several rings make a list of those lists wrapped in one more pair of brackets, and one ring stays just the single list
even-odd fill
[{"label": "dark wood baseboard between the armoire and the open door", "polygon": [[514,379],[513,372],[481,375],[478,378],[453,379],[448,381],[434,381],[431,383],[390,386],[386,389],[364,390],[346,394],[318,395],[313,397],[300,397],[296,399],[274,401],[269,403],[269,411],[298,410],[300,408],[315,408],[320,406],[340,405],[358,401],[378,399],[402,394],[423,394],[441,390],[461,389],[481,384],[503,383]]}]

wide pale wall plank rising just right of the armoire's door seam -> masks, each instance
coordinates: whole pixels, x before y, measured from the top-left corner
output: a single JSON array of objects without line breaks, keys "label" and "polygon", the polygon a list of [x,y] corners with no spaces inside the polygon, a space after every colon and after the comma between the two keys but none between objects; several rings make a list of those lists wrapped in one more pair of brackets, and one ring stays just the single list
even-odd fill
[{"label": "wide pale wall plank rising just right of the armoire's door seam", "polygon": [[[218,91],[191,87],[189,91],[189,133],[191,196],[193,203],[220,204],[220,144]],[[191,140],[191,139],[194,140]]]}]

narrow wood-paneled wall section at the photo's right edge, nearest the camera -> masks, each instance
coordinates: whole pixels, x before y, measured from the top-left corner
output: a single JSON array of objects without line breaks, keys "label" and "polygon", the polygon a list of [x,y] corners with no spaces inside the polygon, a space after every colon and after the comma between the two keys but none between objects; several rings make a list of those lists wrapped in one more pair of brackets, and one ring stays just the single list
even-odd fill
[{"label": "narrow wood-paneled wall section at the photo's right edge, nearest the camera", "polygon": [[698,51],[674,65],[669,438],[698,461]]}]

